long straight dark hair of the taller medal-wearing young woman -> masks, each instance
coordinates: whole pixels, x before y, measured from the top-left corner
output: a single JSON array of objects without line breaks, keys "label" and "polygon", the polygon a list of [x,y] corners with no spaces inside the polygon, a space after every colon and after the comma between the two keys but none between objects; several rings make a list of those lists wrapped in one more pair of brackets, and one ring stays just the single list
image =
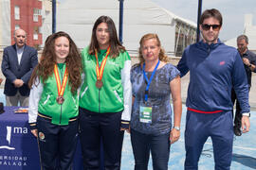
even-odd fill
[{"label": "long straight dark hair of the taller medal-wearing young woman", "polygon": [[92,38],[91,38],[91,42],[89,45],[89,54],[95,55],[95,50],[100,51],[100,45],[99,45],[99,43],[97,41],[97,37],[96,37],[96,29],[97,29],[97,26],[99,26],[101,23],[106,23],[108,26],[110,56],[112,58],[117,58],[119,56],[120,52],[125,51],[125,48],[119,42],[117,29],[116,29],[116,26],[115,26],[113,20],[109,16],[104,16],[104,15],[99,17],[93,26]]}]

